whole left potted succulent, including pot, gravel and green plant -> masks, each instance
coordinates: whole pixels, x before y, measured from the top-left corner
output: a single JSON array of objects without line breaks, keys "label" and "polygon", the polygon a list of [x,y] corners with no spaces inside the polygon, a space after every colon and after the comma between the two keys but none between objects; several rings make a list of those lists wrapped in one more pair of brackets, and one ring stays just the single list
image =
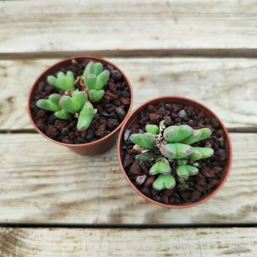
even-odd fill
[{"label": "whole left potted succulent, including pot, gravel and green plant", "polygon": [[83,155],[107,151],[132,108],[132,87],[113,63],[98,57],[62,60],[43,72],[29,94],[35,129]]}]

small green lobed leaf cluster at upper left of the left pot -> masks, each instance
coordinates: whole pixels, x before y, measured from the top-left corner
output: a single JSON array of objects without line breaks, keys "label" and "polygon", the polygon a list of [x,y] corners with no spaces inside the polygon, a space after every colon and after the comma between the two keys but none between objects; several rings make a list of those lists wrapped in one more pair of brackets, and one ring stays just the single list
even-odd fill
[{"label": "small green lobed leaf cluster at upper left of the left pot", "polygon": [[75,79],[71,71],[68,71],[66,75],[63,72],[59,72],[57,73],[57,78],[48,76],[47,81],[50,85],[62,89],[63,91],[73,90],[75,88]]}]

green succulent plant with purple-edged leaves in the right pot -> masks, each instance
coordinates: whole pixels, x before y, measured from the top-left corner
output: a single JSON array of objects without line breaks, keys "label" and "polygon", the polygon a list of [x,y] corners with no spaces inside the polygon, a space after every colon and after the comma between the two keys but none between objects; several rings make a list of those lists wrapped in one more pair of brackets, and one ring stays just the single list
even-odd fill
[{"label": "green succulent plant with purple-edged leaves in the right pot", "polygon": [[[133,134],[130,140],[137,146],[134,149],[139,151],[135,157],[140,161],[154,161],[149,174],[159,174],[153,183],[153,188],[162,190],[171,189],[175,186],[176,180],[183,183],[189,176],[199,172],[197,166],[188,165],[188,161],[208,158],[213,155],[213,149],[205,147],[192,147],[194,144],[211,136],[212,132],[208,128],[193,130],[188,125],[165,127],[165,121],[157,125],[146,126],[146,133]],[[168,158],[168,159],[167,159]],[[172,168],[171,164],[172,163]]]}]

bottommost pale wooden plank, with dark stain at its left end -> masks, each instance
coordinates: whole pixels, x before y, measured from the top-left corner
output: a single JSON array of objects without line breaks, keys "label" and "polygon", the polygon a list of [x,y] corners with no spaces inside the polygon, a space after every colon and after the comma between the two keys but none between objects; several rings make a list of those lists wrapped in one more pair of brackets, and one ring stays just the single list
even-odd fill
[{"label": "bottommost pale wooden plank, with dark stain at its left end", "polygon": [[3,257],[247,257],[257,254],[256,233],[257,228],[1,228],[0,253]]}]

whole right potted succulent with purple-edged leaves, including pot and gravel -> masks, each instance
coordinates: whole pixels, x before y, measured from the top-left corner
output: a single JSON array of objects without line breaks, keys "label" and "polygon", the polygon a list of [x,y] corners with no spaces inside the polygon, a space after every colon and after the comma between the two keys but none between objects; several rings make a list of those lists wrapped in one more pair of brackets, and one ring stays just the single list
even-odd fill
[{"label": "whole right potted succulent with purple-edged leaves, including pot and gravel", "polygon": [[130,185],[168,208],[199,205],[225,183],[232,162],[228,133],[209,108],[183,97],[159,97],[125,121],[118,158]]}]

